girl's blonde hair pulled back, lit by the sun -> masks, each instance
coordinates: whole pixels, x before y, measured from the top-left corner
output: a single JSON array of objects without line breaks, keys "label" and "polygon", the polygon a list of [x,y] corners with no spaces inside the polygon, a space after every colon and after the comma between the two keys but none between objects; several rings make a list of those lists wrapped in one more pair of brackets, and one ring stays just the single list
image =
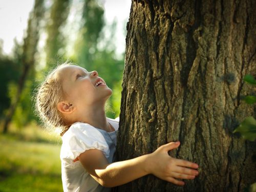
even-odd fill
[{"label": "girl's blonde hair pulled back, lit by the sun", "polygon": [[69,65],[74,64],[65,62],[50,71],[45,81],[37,88],[35,97],[35,108],[42,123],[48,129],[59,128],[60,136],[69,129],[69,126],[65,124],[57,109],[57,104],[63,99],[62,81],[58,72]]}]

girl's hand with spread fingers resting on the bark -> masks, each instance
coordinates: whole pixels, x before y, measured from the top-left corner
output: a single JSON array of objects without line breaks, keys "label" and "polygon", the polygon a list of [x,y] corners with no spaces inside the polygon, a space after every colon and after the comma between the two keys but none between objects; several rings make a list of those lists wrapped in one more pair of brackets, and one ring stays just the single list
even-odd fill
[{"label": "girl's hand with spread fingers resting on the bark", "polygon": [[179,147],[180,142],[169,142],[159,147],[155,152],[149,154],[148,172],[156,177],[172,182],[176,185],[184,185],[183,181],[177,179],[195,179],[199,172],[198,164],[175,159],[168,155],[168,151]]}]

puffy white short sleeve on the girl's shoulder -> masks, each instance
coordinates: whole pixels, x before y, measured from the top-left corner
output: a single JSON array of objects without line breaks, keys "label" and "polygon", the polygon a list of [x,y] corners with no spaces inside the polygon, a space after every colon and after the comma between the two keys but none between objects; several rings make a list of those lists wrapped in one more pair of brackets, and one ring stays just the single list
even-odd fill
[{"label": "puffy white short sleeve on the girl's shoulder", "polygon": [[89,149],[98,149],[106,158],[110,155],[108,143],[93,126],[84,123],[73,124],[62,136],[60,158],[74,160]]}]

